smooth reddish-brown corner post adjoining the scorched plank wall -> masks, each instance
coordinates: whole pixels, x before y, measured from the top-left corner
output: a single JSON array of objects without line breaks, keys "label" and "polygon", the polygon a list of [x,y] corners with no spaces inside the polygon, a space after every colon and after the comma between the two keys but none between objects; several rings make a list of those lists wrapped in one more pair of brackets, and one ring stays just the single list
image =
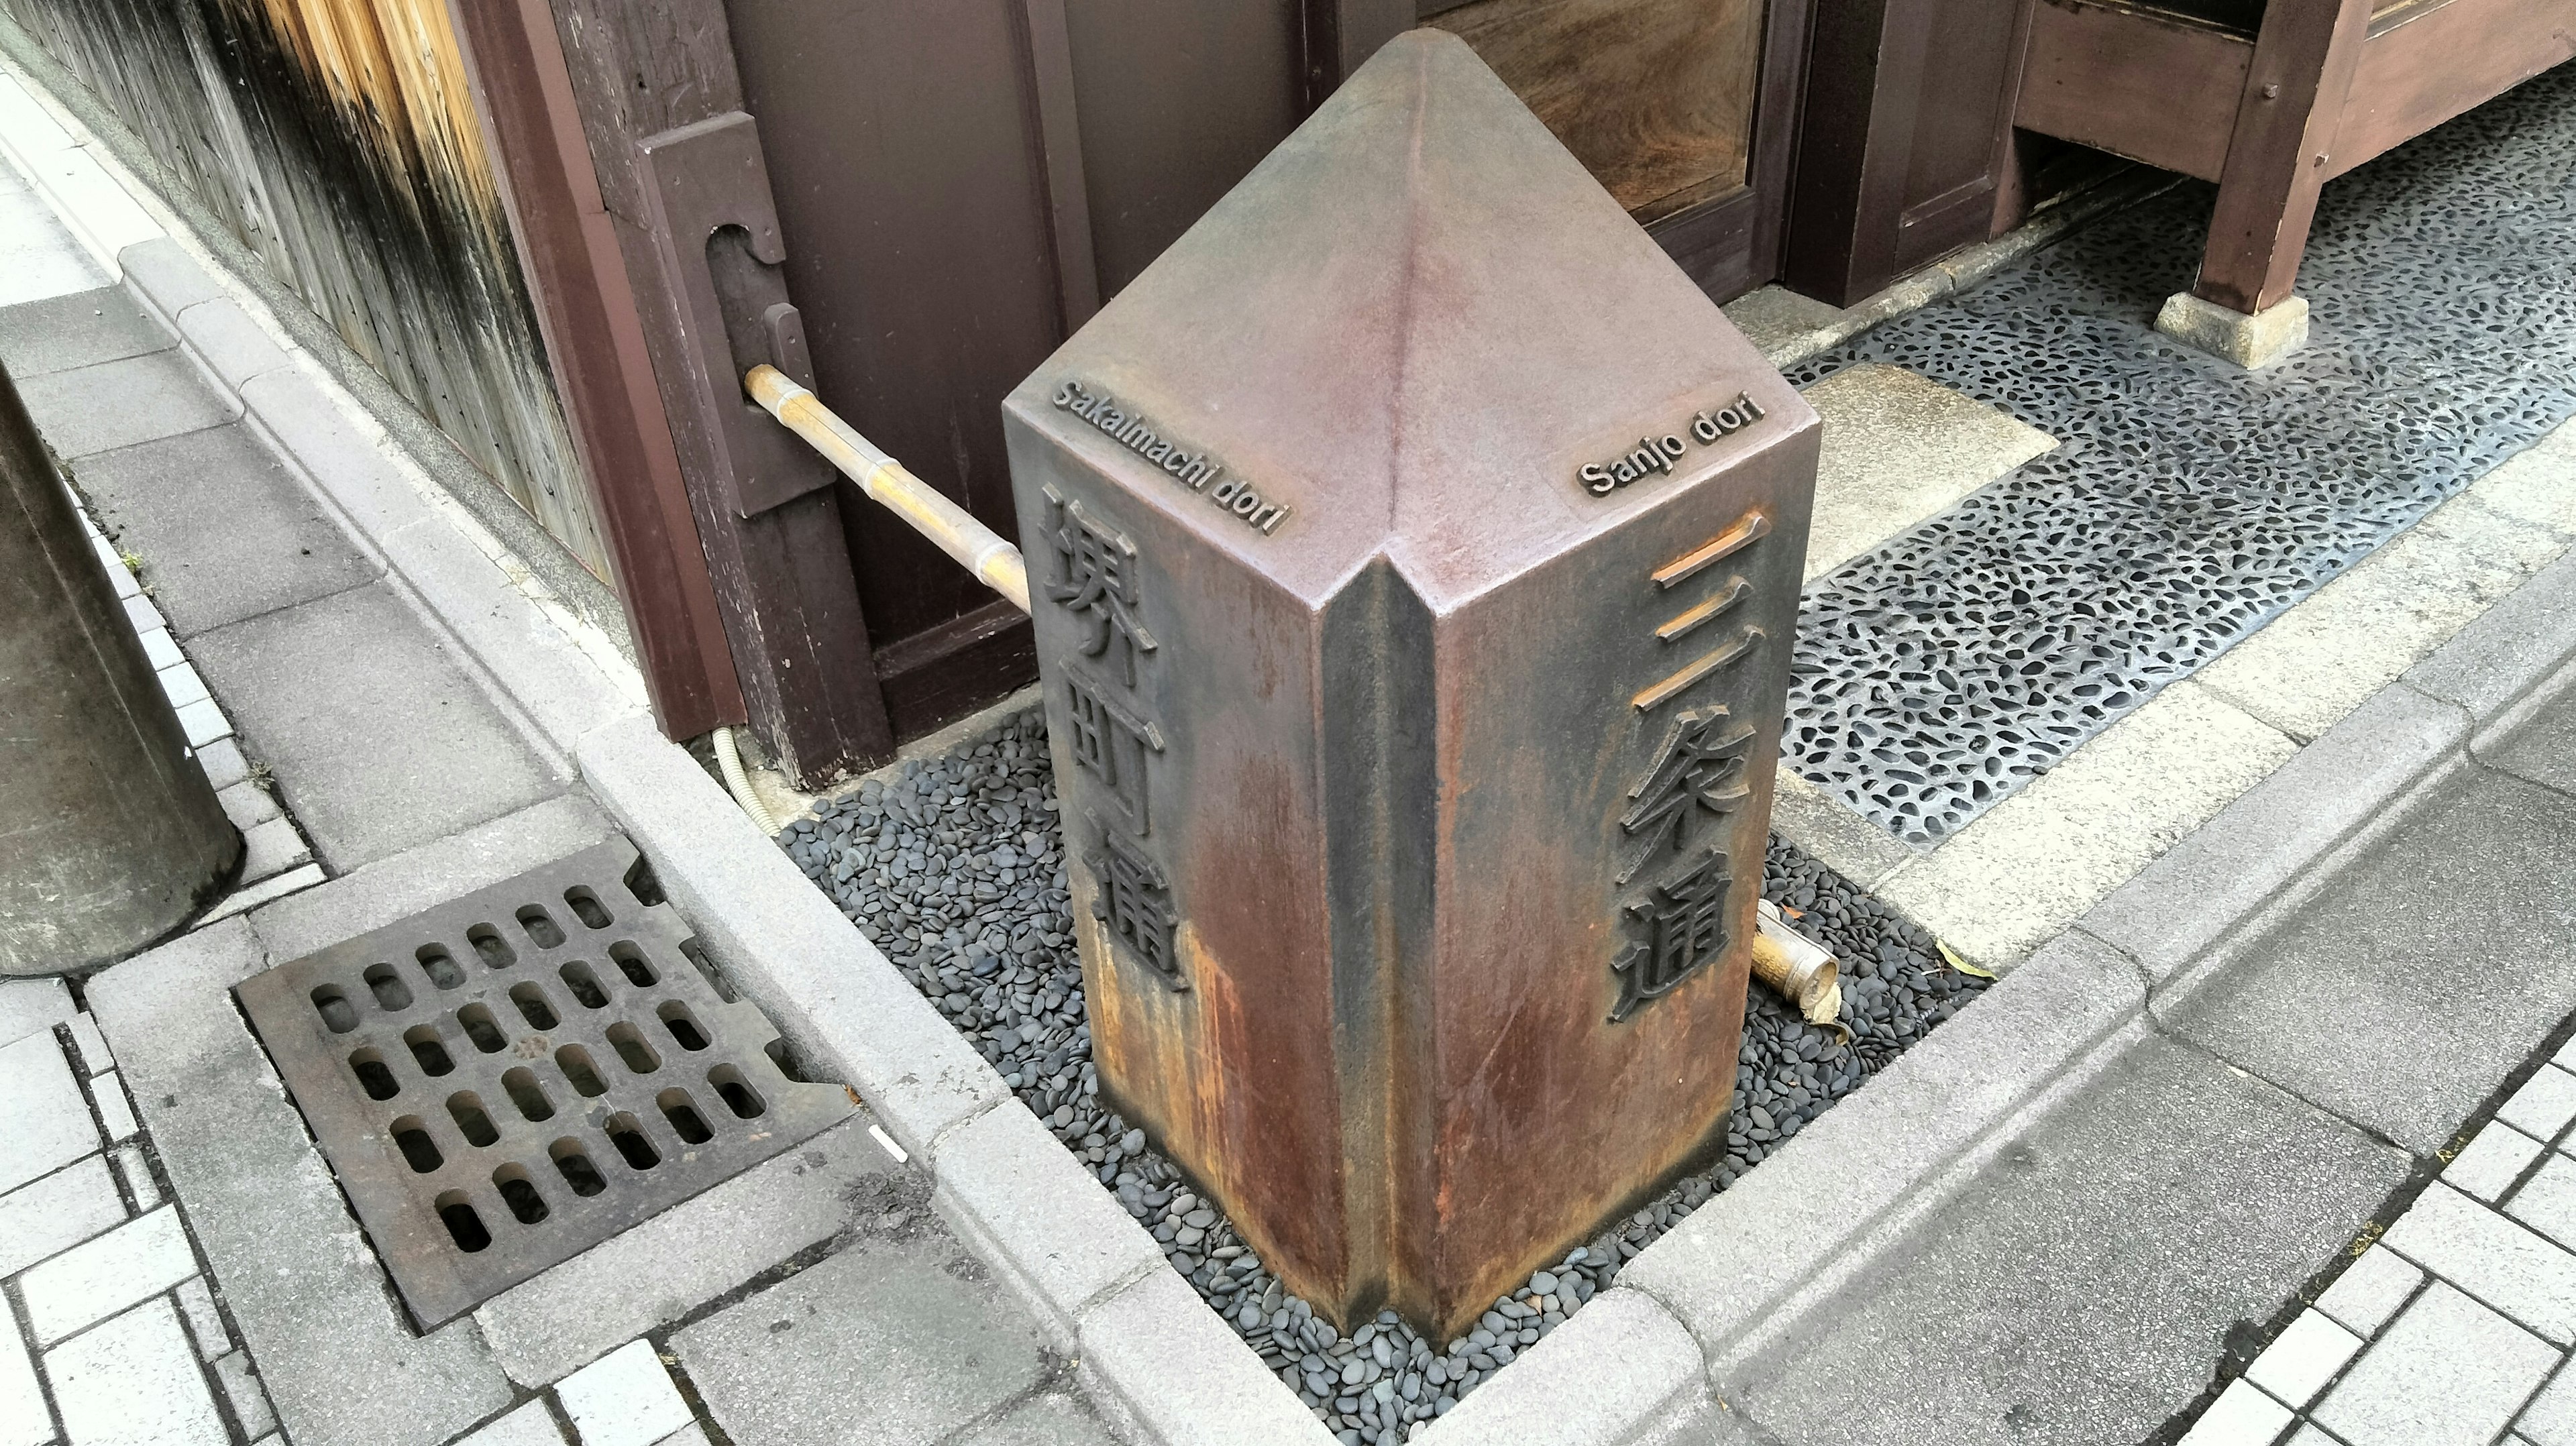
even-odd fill
[{"label": "smooth reddish-brown corner post adjoining the scorched plank wall", "polygon": [[747,722],[716,588],[544,0],[448,3],[644,688],[670,737]]}]

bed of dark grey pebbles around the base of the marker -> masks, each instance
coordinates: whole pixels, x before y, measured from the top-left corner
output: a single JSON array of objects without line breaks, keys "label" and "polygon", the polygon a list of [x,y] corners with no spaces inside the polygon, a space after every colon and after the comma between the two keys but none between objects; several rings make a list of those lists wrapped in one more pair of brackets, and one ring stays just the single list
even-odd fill
[{"label": "bed of dark grey pebbles around the base of the marker", "polygon": [[863,784],[791,822],[778,843],[976,1041],[1020,1101],[1345,1443],[1388,1446],[1422,1431],[1607,1289],[1620,1263],[1986,985],[1947,969],[1929,933],[1772,838],[1762,894],[1803,910],[1798,925],[1842,959],[1850,1044],[1754,985],[1736,1062],[1736,1119],[1713,1170],[1533,1273],[1448,1348],[1422,1340],[1394,1312],[1345,1338],[1262,1271],[1141,1129],[1095,1101],[1041,711],[984,729],[945,758],[907,760],[896,781]]}]

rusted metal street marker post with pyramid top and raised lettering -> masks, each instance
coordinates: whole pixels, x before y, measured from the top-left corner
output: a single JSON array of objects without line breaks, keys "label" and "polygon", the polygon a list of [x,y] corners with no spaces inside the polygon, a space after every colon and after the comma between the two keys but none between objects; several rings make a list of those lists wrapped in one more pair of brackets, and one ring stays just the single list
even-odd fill
[{"label": "rusted metal street marker post with pyramid top and raised lettering", "polygon": [[1816,418],[1417,31],[1007,430],[1103,1095],[1448,1338],[1723,1129]]}]

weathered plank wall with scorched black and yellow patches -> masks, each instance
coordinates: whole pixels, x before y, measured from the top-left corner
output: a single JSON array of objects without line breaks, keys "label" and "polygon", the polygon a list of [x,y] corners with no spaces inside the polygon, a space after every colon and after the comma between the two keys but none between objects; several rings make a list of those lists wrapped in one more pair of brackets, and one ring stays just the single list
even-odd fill
[{"label": "weathered plank wall with scorched black and yellow patches", "polygon": [[611,575],[446,0],[0,0],[232,232]]}]

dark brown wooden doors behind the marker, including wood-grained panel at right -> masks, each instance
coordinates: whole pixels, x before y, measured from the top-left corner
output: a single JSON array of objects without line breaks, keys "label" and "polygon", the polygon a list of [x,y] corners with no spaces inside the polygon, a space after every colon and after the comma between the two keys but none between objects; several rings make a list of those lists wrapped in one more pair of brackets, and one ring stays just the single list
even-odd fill
[{"label": "dark brown wooden doors behind the marker, including wood-grained panel at right", "polygon": [[[1458,28],[1721,299],[1777,268],[1808,0],[1476,0]],[[1412,0],[729,0],[817,392],[1005,536],[999,400]],[[1607,26],[1607,31],[1605,31]],[[1600,46],[1602,34],[1625,34]],[[1628,108],[1566,106],[1623,85]],[[1623,147],[1623,129],[1643,126]],[[1587,155],[1589,149],[1589,155]],[[860,497],[896,737],[1036,675],[1028,626]]]}]

